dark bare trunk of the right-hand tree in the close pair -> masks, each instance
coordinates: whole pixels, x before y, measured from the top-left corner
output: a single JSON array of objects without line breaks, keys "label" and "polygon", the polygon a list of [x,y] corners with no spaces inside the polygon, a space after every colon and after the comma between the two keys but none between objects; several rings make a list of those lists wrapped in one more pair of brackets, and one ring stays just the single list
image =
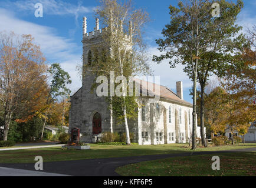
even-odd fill
[{"label": "dark bare trunk of the right-hand tree in the close pair", "polygon": [[205,121],[204,121],[204,100],[205,100],[205,88],[201,85],[201,103],[200,103],[200,132],[201,132],[201,140],[202,146],[207,147],[207,142],[205,139]]}]

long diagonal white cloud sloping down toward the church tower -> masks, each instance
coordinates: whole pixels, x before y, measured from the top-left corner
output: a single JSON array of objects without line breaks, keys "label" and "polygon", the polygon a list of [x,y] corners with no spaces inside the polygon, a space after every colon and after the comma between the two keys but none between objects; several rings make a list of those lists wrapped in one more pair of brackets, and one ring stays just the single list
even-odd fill
[{"label": "long diagonal white cloud sloping down toward the church tower", "polygon": [[44,56],[51,60],[50,63],[60,63],[61,67],[70,74],[73,81],[71,90],[81,86],[76,72],[76,65],[81,64],[81,45],[77,45],[71,39],[58,36],[53,28],[18,19],[6,9],[0,9],[0,28],[14,31],[19,35],[31,34],[35,38],[35,43],[40,45]]}]

